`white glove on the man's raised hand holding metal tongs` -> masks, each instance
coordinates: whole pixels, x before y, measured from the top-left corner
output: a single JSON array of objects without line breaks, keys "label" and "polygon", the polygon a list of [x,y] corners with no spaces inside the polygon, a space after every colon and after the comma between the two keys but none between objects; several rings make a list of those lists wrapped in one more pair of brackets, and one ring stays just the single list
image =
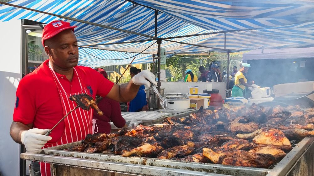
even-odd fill
[{"label": "white glove on the man's raised hand holding metal tongs", "polygon": [[150,87],[150,83],[157,85],[156,76],[149,70],[143,70],[132,78],[133,83],[136,85],[147,85]]}]

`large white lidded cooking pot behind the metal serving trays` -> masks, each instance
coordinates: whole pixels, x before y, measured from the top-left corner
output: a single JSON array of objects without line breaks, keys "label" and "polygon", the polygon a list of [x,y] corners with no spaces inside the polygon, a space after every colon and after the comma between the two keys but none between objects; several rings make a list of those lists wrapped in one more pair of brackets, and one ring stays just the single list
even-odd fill
[{"label": "large white lidded cooking pot behind the metal serving trays", "polygon": [[166,96],[168,109],[188,109],[190,108],[190,98],[183,94],[172,94]]}]

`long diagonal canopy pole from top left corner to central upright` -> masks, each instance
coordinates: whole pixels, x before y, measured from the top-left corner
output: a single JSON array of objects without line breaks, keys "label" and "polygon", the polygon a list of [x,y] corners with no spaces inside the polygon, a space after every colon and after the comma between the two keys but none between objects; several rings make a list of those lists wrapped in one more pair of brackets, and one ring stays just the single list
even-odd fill
[{"label": "long diagonal canopy pole from top left corner to central upright", "polygon": [[33,11],[33,12],[44,13],[44,14],[47,14],[47,15],[51,15],[51,16],[55,16],[55,17],[59,17],[59,18],[64,18],[64,19],[68,19],[68,20],[72,20],[72,21],[77,21],[77,22],[80,22],[80,23],[86,23],[86,24],[90,24],[90,25],[94,25],[94,26],[99,26],[99,27],[102,27],[102,28],[108,28],[108,29],[113,29],[113,30],[117,30],[117,31],[122,31],[122,32],[126,32],[126,33],[129,33],[129,34],[135,34],[135,35],[140,35],[140,36],[149,37],[149,38],[153,38],[153,39],[158,39],[156,37],[153,37],[153,36],[150,36],[150,35],[146,35],[146,34],[140,34],[140,33],[137,33],[137,32],[132,32],[132,31],[119,29],[119,28],[114,28],[114,27],[111,27],[111,26],[106,26],[106,25],[97,24],[97,23],[93,23],[93,22],[88,22],[88,21],[84,21],[84,20],[80,20],[80,19],[76,19],[76,18],[66,17],[66,16],[57,15],[57,14],[53,14],[53,13],[48,13],[48,12],[44,12],[44,11],[41,11],[41,10],[35,10],[35,9],[32,9],[32,8],[26,8],[26,7],[23,7],[23,6],[18,6],[18,5],[14,5],[14,4],[10,4],[10,3],[0,2],[0,4],[11,6],[11,7],[15,7],[15,8],[22,8],[22,9],[30,10],[30,11]]}]

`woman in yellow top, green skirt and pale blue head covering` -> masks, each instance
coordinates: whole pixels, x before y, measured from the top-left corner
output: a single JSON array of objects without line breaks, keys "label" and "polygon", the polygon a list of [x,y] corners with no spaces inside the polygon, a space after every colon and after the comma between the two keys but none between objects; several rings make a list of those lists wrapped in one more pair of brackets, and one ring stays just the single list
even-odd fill
[{"label": "woman in yellow top, green skirt and pale blue head covering", "polygon": [[244,97],[244,90],[246,87],[253,87],[252,84],[254,84],[254,81],[247,82],[243,74],[246,73],[250,67],[250,64],[241,63],[241,69],[235,75],[235,85],[231,90],[231,96]]}]

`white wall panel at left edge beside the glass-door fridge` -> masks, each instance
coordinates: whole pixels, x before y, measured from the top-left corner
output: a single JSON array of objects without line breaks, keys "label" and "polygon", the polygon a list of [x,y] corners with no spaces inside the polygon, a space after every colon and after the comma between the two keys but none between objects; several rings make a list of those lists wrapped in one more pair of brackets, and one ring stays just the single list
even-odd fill
[{"label": "white wall panel at left edge beside the glass-door fridge", "polygon": [[15,92],[21,78],[21,21],[0,22],[0,171],[3,176],[19,175],[20,145],[10,134]]}]

